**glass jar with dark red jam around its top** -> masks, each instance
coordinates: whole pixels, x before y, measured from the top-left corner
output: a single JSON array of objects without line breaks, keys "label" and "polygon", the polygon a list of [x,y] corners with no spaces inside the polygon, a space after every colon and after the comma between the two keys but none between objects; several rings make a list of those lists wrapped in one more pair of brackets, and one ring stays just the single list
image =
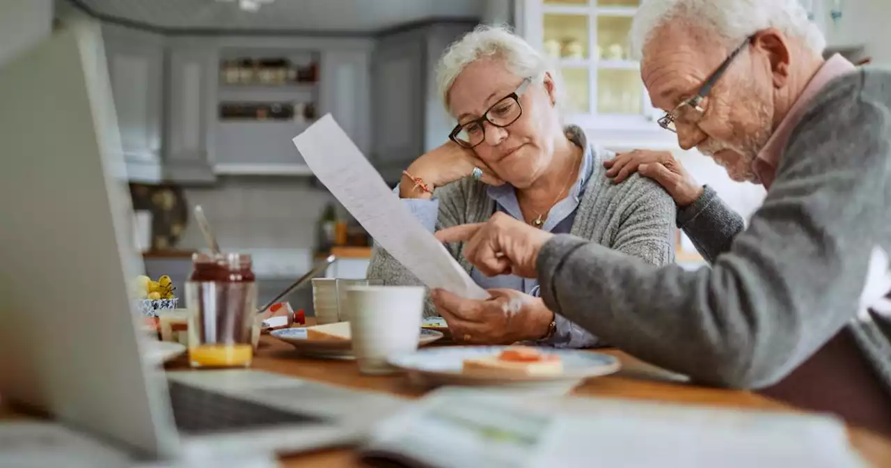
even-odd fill
[{"label": "glass jar with dark red jam around its top", "polygon": [[257,316],[257,283],[249,255],[192,255],[185,283],[192,367],[247,367]]}]

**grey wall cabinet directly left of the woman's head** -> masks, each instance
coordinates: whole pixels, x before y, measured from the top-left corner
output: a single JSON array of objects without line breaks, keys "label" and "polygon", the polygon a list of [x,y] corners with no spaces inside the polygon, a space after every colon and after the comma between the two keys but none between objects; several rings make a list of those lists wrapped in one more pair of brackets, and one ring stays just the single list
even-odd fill
[{"label": "grey wall cabinet directly left of the woman's head", "polygon": [[381,37],[372,67],[372,161],[395,183],[421,154],[446,143],[454,127],[436,89],[446,47],[474,22],[429,24]]}]

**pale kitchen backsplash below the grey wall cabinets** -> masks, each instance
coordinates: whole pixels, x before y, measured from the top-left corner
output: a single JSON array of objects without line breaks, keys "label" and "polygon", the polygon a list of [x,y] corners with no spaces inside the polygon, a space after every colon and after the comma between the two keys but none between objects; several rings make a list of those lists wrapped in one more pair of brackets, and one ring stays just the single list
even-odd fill
[{"label": "pale kitchen backsplash below the grey wall cabinets", "polygon": [[223,248],[315,248],[316,223],[331,193],[309,178],[220,177],[212,187],[186,187],[189,223],[178,249],[203,249],[204,238],[192,215],[196,204]]}]

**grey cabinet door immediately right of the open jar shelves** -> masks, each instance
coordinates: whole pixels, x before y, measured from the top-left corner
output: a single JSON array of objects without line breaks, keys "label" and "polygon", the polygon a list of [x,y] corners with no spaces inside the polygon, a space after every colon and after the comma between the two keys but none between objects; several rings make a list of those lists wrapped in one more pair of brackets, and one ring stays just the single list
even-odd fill
[{"label": "grey cabinet door immediately right of the open jar shelves", "polygon": [[322,53],[320,115],[331,113],[366,157],[371,151],[371,54],[331,50]]}]

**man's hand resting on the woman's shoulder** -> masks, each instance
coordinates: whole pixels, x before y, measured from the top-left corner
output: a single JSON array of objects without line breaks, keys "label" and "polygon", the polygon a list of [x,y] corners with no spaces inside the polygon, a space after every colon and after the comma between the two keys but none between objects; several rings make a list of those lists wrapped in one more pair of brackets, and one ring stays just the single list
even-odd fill
[{"label": "man's hand resting on the woman's shoulder", "polygon": [[702,186],[696,183],[680,162],[674,160],[671,152],[623,152],[612,160],[603,161],[603,166],[609,169],[607,177],[612,177],[617,184],[634,174],[634,171],[640,172],[643,177],[649,177],[662,185],[674,198],[674,203],[682,208],[699,199],[703,192]]}]

